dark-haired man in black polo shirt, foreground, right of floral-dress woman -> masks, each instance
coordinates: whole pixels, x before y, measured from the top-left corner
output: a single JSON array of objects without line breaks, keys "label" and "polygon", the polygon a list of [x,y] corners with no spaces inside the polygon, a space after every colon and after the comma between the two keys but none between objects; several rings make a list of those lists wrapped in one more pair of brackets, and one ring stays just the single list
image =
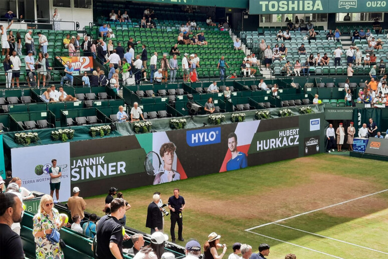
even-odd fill
[{"label": "dark-haired man in black polo shirt, foreground, right of floral-dress woman", "polygon": [[122,198],[113,199],[110,203],[110,215],[103,216],[97,224],[97,249],[98,259],[122,259],[123,240],[129,239],[129,235],[123,236],[123,226],[119,218],[125,215],[125,201]]}]

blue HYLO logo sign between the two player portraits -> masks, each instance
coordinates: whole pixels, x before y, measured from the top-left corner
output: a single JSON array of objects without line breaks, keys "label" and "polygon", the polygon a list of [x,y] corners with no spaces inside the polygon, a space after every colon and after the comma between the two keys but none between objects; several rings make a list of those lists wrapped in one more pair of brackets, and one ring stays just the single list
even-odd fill
[{"label": "blue HYLO logo sign between the two player portraits", "polygon": [[190,147],[221,143],[221,127],[187,131],[186,142]]}]

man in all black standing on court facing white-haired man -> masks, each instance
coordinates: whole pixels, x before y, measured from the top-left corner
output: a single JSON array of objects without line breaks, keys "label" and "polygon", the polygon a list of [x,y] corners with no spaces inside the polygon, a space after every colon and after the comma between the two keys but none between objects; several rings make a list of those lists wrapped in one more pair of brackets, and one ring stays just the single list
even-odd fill
[{"label": "man in all black standing on court facing white-haired man", "polygon": [[171,196],[168,199],[168,208],[170,209],[171,213],[171,227],[170,227],[170,234],[171,234],[171,240],[174,243],[175,242],[175,223],[178,223],[178,240],[184,241],[182,237],[182,230],[183,230],[183,222],[182,222],[182,211],[186,204],[184,203],[184,198],[179,195],[179,189],[174,189],[174,196]]}]

